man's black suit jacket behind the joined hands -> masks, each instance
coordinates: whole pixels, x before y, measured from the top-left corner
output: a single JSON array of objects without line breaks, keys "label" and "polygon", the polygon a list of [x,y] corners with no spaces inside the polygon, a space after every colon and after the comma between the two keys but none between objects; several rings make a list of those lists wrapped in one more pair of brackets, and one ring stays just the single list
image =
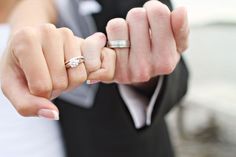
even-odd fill
[{"label": "man's black suit jacket behind the joined hands", "polygon": [[[111,1],[101,0],[104,10],[94,15],[100,31],[104,30],[110,18],[124,17],[129,9],[144,3],[144,0],[119,0],[112,1],[112,4]],[[165,3],[170,4],[169,1]],[[114,13],[121,7],[118,4],[126,5]],[[116,84],[100,84],[91,109],[55,100],[60,110],[60,125],[68,157],[173,157],[164,117],[185,95],[187,79],[187,68],[181,60],[175,71],[164,77],[152,125],[140,130],[135,129]]]}]

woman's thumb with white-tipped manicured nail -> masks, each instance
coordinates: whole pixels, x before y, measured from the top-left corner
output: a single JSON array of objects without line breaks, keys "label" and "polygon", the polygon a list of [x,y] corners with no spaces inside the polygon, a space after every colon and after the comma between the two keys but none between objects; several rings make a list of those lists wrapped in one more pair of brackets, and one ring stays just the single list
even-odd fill
[{"label": "woman's thumb with white-tipped manicured nail", "polygon": [[[14,70],[13,70],[14,69]],[[22,116],[37,116],[51,120],[59,119],[57,107],[48,99],[30,93],[23,73],[17,67],[7,68],[1,76],[4,95]]]}]

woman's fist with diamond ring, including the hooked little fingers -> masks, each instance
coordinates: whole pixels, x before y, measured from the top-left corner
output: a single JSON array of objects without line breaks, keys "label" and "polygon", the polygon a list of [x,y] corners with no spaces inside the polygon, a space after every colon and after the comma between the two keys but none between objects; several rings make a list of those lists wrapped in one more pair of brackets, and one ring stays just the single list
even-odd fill
[{"label": "woman's fist with diamond ring, including the hooked little fingers", "polygon": [[[78,87],[87,78],[113,79],[115,53],[103,48],[105,43],[101,33],[83,40],[71,30],[51,24],[20,29],[11,36],[2,58],[2,90],[21,115],[58,119],[58,109],[50,99]],[[65,67],[66,61],[82,55],[86,67],[84,63]],[[99,66],[94,67],[94,62]]]}]

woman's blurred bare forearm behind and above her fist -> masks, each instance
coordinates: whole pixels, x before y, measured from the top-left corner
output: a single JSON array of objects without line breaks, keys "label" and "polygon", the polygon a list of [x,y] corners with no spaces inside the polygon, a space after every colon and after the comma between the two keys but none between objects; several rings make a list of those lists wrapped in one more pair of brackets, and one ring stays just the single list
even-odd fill
[{"label": "woman's blurred bare forearm behind and above her fist", "polygon": [[57,12],[53,0],[20,1],[8,17],[11,34],[24,28],[56,23]]}]

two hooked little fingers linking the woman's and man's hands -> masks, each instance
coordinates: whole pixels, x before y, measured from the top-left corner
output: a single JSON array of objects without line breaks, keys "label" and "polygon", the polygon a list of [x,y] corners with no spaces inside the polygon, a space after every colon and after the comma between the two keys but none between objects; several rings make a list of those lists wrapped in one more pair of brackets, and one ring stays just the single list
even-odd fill
[{"label": "two hooked little fingers linking the woman's and man's hands", "polygon": [[86,38],[81,47],[90,83],[111,82],[114,79],[116,53],[105,48],[107,39],[103,33]]}]

